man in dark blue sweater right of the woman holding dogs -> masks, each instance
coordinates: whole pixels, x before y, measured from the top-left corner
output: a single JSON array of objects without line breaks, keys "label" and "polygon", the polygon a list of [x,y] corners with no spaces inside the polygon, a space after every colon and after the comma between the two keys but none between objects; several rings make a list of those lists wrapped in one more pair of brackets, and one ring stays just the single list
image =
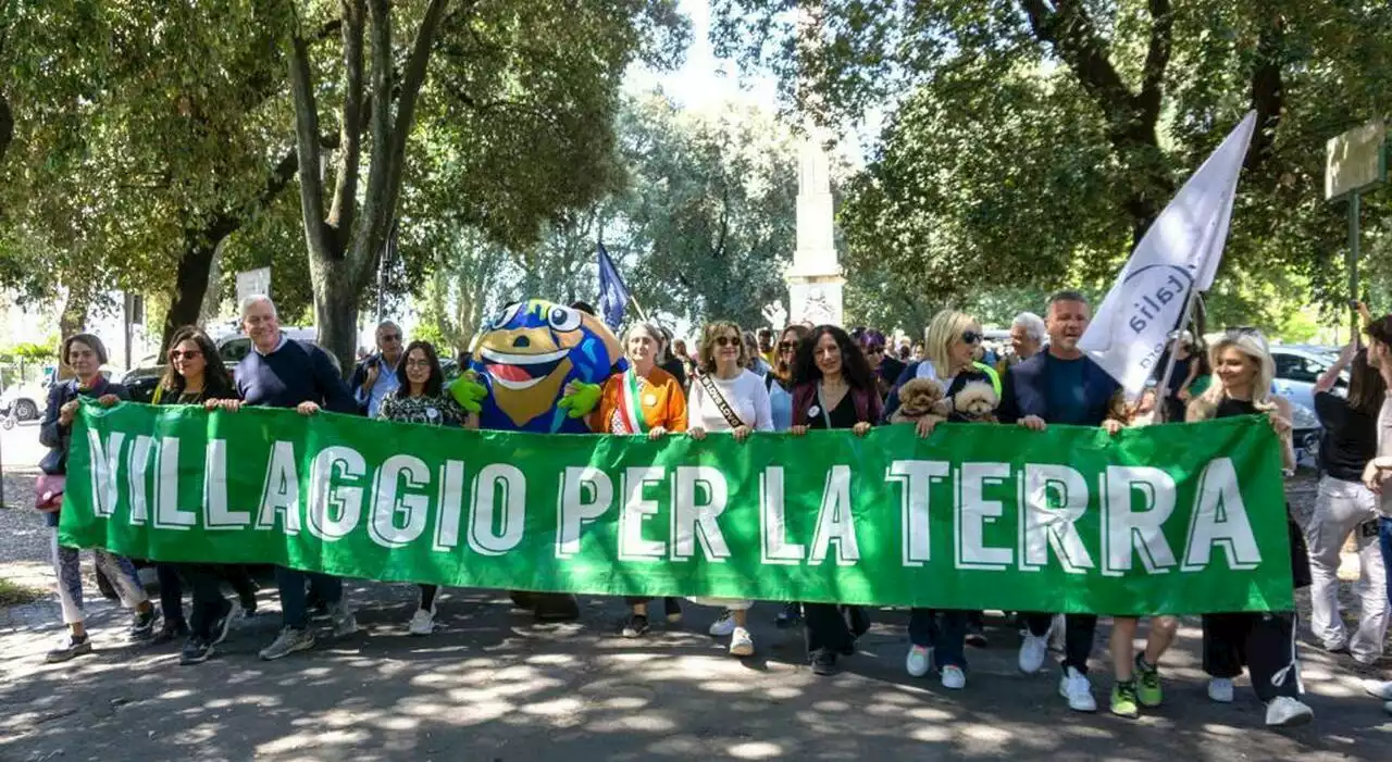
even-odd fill
[{"label": "man in dark blue sweater right of the woman holding dogs", "polygon": [[[998,410],[1002,423],[1018,423],[1031,431],[1044,431],[1050,424],[1100,425],[1112,434],[1122,428],[1122,421],[1109,417],[1112,398],[1121,387],[1077,348],[1090,320],[1091,309],[1082,293],[1062,291],[1050,298],[1044,321],[1048,349],[1006,373]],[[1054,616],[1026,613],[1025,620],[1029,633],[1020,644],[1020,670],[1034,673],[1044,666],[1048,655]],[[1096,712],[1087,658],[1093,652],[1097,616],[1068,615],[1065,624],[1059,694],[1068,698],[1069,708]]]}]

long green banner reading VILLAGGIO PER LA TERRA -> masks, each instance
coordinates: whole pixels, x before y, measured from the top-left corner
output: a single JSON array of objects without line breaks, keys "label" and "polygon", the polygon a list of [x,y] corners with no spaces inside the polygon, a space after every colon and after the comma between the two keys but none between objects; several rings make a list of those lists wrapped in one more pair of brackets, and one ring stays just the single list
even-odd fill
[{"label": "long green banner reading VILLAGGIO PER LA TERRA", "polygon": [[1293,608],[1263,419],[738,444],[84,403],[68,471],[60,541],[155,560],[947,609]]}]

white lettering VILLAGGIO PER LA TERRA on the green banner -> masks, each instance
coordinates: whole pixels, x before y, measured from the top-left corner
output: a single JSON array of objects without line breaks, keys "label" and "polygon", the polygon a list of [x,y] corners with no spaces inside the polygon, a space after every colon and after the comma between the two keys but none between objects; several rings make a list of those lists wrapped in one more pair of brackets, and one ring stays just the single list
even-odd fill
[{"label": "white lettering VILLAGGIO PER LA TERRA on the green banner", "polygon": [[[157,528],[184,530],[198,526],[202,519],[203,527],[210,530],[274,531],[278,527],[288,535],[308,530],[313,537],[333,542],[356,530],[366,510],[369,537],[384,548],[401,548],[425,534],[434,501],[433,549],[451,552],[459,544],[468,487],[466,546],[479,555],[497,556],[522,541],[528,477],[509,463],[483,466],[473,474],[472,485],[466,485],[462,460],[445,460],[436,473],[416,456],[394,455],[369,474],[358,451],[329,446],[312,463],[308,510],[302,520],[298,459],[288,441],[276,441],[271,446],[253,516],[228,508],[226,439],[207,441],[202,513],[178,506],[177,437],[156,441],[145,435],[128,438],[124,432],[111,432],[103,442],[96,431],[88,431],[88,439],[93,508],[97,516],[107,519],[116,514],[124,478],[132,524],[153,519]],[[152,464],[156,469],[153,474]],[[153,506],[149,499],[152,477]],[[764,469],[759,476],[763,563],[821,565],[828,555],[841,566],[859,563],[860,548],[851,510],[852,478],[849,466],[828,470],[809,551],[809,545],[788,540],[784,467]],[[1050,551],[1068,573],[1084,574],[1097,569],[1076,527],[1091,494],[1087,478],[1075,469],[976,462],[954,469],[940,460],[894,460],[884,478],[901,487],[901,562],[905,567],[923,566],[930,560],[931,487],[951,478],[954,563],[958,569],[1037,572],[1048,563]],[[1016,478],[1018,484],[1018,544],[987,545],[986,526],[1002,519],[1006,505],[988,499],[986,489],[1011,478]],[[567,467],[560,480],[555,555],[571,558],[580,551],[585,526],[612,510],[614,478],[586,466]],[[670,537],[667,541],[649,540],[643,537],[643,524],[660,509],[644,495],[665,480],[671,480]],[[1225,551],[1229,569],[1250,570],[1261,563],[1237,474],[1228,457],[1212,459],[1199,477],[1182,558],[1175,556],[1162,531],[1176,499],[1175,481],[1168,473],[1154,467],[1108,466],[1100,476],[1098,491],[1104,576],[1130,572],[1136,558],[1150,574],[1175,569],[1199,572],[1208,566],[1214,548]],[[720,563],[731,556],[717,521],[729,496],[728,483],[718,469],[628,467],[619,474],[618,495],[622,498],[618,509],[621,560],[688,560],[696,555],[697,544],[707,562]],[[1137,502],[1139,506],[1134,505]]]}]

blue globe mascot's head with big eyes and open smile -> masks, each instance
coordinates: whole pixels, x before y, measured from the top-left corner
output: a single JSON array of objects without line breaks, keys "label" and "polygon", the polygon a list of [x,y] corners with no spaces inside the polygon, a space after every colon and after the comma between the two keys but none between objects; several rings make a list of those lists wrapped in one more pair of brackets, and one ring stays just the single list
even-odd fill
[{"label": "blue globe mascot's head with big eyes and open smile", "polygon": [[479,334],[473,370],[483,377],[482,428],[587,432],[557,406],[571,381],[603,384],[622,357],[614,332],[597,317],[541,299],[503,307]]}]

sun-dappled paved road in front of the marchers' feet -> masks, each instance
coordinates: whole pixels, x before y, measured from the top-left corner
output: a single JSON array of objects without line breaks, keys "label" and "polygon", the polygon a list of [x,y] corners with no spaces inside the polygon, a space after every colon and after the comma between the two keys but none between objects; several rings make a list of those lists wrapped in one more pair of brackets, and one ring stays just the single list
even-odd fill
[{"label": "sun-dappled paved road in front of the marchers' feet", "polygon": [[771,605],[750,613],[759,656],[738,660],[697,606],[632,641],[617,635],[614,599],[586,598],[578,623],[535,624],[501,594],[454,591],[440,631],[415,638],[412,587],[367,583],[352,598],[358,634],[278,662],[256,658],[274,610],[187,667],[177,645],[124,645],[110,609],[97,654],[67,665],[42,660],[57,630],[0,635],[0,759],[1392,759],[1392,718],[1322,654],[1306,663],[1313,726],[1264,730],[1244,683],[1236,704],[1210,704],[1194,627],[1166,659],[1165,705],[1123,720],[1105,713],[1100,662],[1104,713],[1072,713],[1057,672],[1016,672],[1004,626],[949,692],[905,674],[902,612],[877,612],[844,673],[823,679],[803,666],[800,631],[771,626]]}]

